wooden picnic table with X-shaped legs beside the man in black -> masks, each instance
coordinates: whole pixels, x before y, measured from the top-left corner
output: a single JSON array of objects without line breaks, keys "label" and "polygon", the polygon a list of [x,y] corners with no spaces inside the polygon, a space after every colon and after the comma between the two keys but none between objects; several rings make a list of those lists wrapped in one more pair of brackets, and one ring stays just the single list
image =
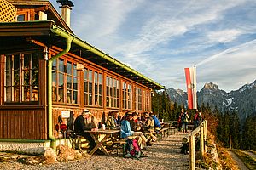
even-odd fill
[{"label": "wooden picnic table with X-shaped legs beside the man in black", "polygon": [[[114,134],[114,133],[120,133],[119,129],[106,129],[106,130],[102,130],[102,129],[98,129],[96,131],[92,131],[92,130],[85,130],[85,133],[90,133],[90,136],[92,137],[92,139],[94,139],[96,146],[90,151],[90,155],[93,155],[97,149],[102,149],[102,151],[104,152],[105,155],[109,156],[109,152],[108,150],[106,150],[106,148],[104,147],[104,143],[108,141],[108,138]],[[104,138],[102,140],[100,140],[98,138],[98,136],[100,134],[104,134]]]}]

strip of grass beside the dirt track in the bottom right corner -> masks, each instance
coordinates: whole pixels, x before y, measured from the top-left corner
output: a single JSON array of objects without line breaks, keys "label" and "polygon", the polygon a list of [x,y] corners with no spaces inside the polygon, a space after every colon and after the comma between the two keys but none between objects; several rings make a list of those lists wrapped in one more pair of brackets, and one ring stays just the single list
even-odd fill
[{"label": "strip of grass beside the dirt track in the bottom right corner", "polygon": [[256,161],[255,159],[253,159],[253,157],[247,155],[245,152],[241,150],[234,150],[234,153],[236,154],[237,157],[239,157],[239,159],[241,159],[241,161],[245,164],[245,166],[248,169],[256,169]]}]

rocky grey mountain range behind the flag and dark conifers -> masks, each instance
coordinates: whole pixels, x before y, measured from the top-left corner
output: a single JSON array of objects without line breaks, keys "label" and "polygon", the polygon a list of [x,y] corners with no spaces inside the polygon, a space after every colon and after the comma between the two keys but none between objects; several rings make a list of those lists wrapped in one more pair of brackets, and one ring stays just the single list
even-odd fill
[{"label": "rocky grey mountain range behind the flag and dark conifers", "polygon": [[[178,105],[187,103],[187,93],[183,90],[168,88],[166,92]],[[209,104],[212,109],[217,106],[219,111],[237,111],[241,120],[244,120],[248,114],[256,112],[256,80],[229,93],[219,89],[217,84],[207,82],[197,92],[197,101],[198,105]]]}]

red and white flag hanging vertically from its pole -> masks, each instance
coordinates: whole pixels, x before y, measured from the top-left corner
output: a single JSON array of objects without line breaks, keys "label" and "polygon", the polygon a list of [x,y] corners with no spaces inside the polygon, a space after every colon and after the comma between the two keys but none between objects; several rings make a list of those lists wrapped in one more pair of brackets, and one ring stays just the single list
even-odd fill
[{"label": "red and white flag hanging vertically from its pole", "polygon": [[189,109],[197,109],[195,67],[185,68],[185,75],[188,92],[188,107]]}]

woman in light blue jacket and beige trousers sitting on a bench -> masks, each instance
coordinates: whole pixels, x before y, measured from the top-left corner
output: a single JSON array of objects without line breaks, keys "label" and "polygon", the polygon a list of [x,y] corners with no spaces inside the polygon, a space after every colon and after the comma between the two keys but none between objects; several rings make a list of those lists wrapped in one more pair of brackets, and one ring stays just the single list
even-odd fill
[{"label": "woman in light blue jacket and beige trousers sitting on a bench", "polygon": [[121,122],[121,134],[120,138],[128,138],[128,139],[137,139],[137,143],[140,148],[143,150],[143,143],[146,144],[148,139],[143,135],[142,132],[134,132],[131,130],[130,121],[132,119],[132,114],[130,111],[125,113],[125,119]]}]

